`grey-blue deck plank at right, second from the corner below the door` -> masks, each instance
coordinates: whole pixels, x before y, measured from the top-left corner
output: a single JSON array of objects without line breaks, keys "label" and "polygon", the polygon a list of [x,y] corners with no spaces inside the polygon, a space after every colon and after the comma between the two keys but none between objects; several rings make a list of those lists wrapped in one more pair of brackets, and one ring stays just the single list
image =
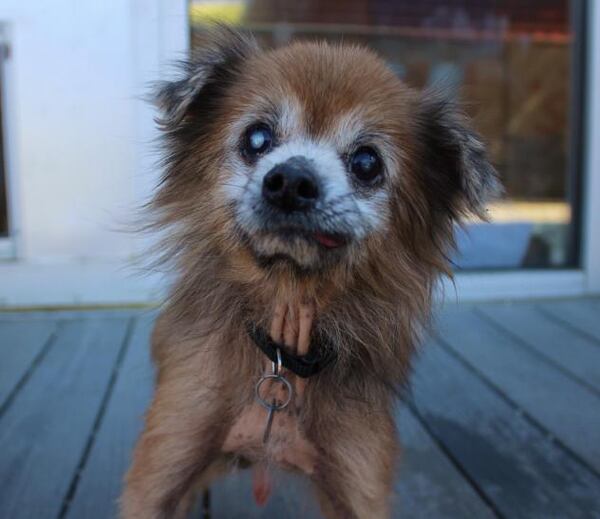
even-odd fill
[{"label": "grey-blue deck plank at right, second from the corner below the door", "polygon": [[550,362],[600,392],[600,348],[531,304],[481,305],[478,311]]}]

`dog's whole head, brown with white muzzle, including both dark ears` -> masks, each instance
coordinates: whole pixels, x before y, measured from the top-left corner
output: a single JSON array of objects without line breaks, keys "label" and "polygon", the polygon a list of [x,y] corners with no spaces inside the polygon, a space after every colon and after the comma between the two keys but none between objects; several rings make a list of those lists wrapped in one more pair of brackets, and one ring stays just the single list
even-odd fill
[{"label": "dog's whole head, brown with white muzzle, including both dark ears", "polygon": [[496,187],[453,105],[362,48],[264,52],[221,30],[158,98],[171,154],[159,205],[188,238],[212,234],[266,271],[348,270],[388,248],[420,261],[416,234],[435,241]]}]

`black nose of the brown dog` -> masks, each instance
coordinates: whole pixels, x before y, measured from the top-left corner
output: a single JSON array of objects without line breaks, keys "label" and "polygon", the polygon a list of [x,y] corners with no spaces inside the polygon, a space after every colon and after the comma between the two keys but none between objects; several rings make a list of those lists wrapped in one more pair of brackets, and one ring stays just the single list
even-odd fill
[{"label": "black nose of the brown dog", "polygon": [[307,211],[319,198],[311,162],[292,157],[271,169],[263,179],[263,197],[282,211]]}]

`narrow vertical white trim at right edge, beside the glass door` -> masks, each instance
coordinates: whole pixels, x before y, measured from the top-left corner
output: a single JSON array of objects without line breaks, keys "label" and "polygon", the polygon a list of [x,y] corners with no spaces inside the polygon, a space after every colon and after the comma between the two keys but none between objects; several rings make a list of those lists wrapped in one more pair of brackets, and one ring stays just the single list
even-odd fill
[{"label": "narrow vertical white trim at right edge, beside the glass door", "polygon": [[588,293],[600,293],[600,6],[588,2],[588,88],[582,263]]}]

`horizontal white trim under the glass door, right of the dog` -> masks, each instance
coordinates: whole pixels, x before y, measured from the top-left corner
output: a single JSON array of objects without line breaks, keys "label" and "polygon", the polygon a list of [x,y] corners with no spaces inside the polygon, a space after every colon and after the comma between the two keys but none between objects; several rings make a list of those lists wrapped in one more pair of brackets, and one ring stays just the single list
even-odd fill
[{"label": "horizontal white trim under the glass door, right of the dog", "polygon": [[518,270],[457,274],[444,279],[439,296],[446,302],[581,296],[586,293],[580,270]]}]

